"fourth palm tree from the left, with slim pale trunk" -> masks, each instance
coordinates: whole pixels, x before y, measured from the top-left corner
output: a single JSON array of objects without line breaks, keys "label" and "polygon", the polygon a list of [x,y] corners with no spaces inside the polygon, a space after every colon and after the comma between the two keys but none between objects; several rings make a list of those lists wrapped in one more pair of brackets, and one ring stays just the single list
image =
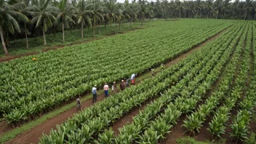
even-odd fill
[{"label": "fourth palm tree from the left, with slim pale trunk", "polygon": [[67,2],[68,0],[61,0],[57,7],[52,7],[52,9],[57,12],[56,20],[60,21],[63,26],[63,43],[65,43],[65,27],[69,28],[69,23],[75,24],[72,18],[68,15],[75,8],[67,7]]}]

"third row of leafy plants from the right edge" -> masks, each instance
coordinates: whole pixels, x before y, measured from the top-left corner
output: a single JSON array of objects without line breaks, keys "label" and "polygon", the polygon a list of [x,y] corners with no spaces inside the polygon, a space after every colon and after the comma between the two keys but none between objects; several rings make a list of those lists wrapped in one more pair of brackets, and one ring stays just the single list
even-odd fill
[{"label": "third row of leafy plants from the right edge", "polygon": [[[246,34],[242,33],[243,40],[245,39],[245,36]],[[237,38],[239,39],[239,36],[237,36]],[[241,44],[240,46],[242,47]],[[189,135],[195,135],[196,132],[199,132],[199,129],[203,126],[207,116],[214,111],[214,109],[220,103],[220,100],[222,100],[225,95],[228,94],[229,89],[231,89],[233,76],[235,75],[236,71],[236,63],[241,54],[241,47],[238,45],[236,48],[231,65],[229,65],[231,68],[228,68],[227,74],[220,83],[219,89],[212,93],[211,97],[209,97],[203,105],[199,105],[197,111],[191,113],[191,115],[187,116],[187,119],[184,120],[183,127],[187,129],[186,132],[189,132]]]}]

